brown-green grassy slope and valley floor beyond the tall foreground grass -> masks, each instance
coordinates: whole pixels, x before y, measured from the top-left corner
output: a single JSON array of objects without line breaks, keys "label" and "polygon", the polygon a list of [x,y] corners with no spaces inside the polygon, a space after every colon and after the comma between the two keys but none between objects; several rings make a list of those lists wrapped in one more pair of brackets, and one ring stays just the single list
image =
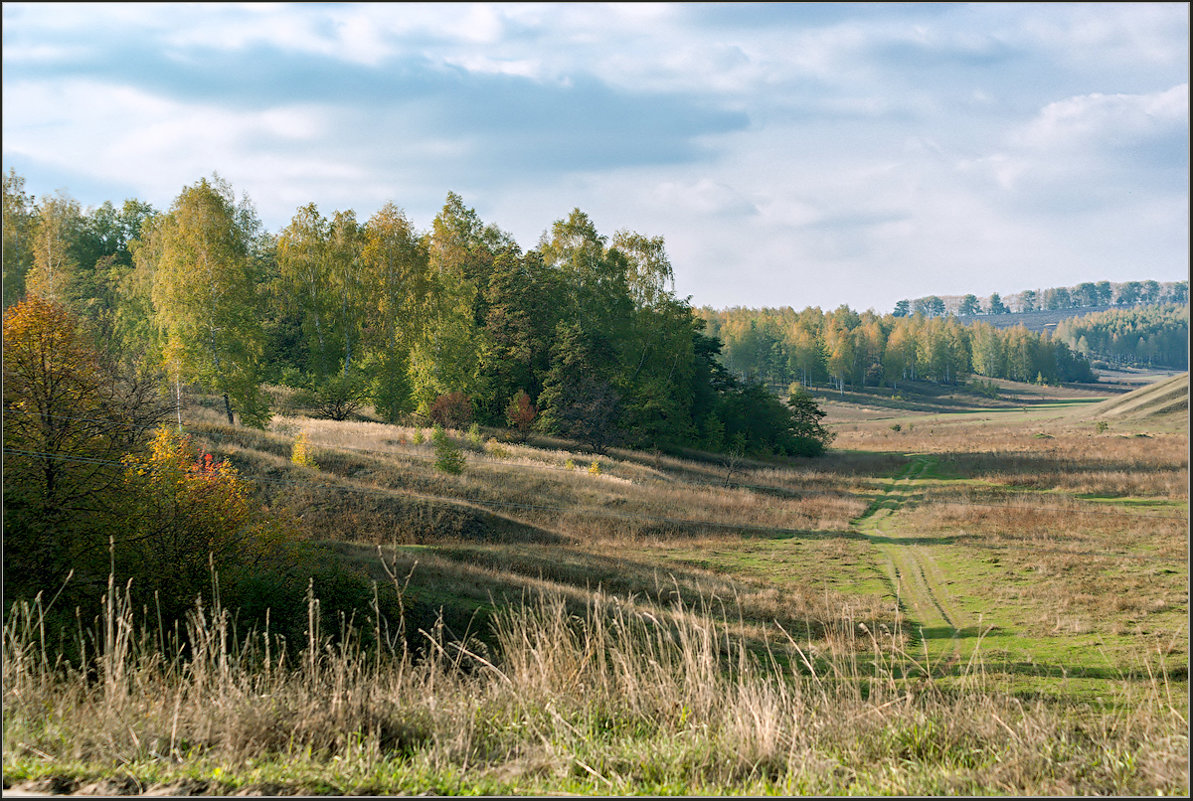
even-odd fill
[{"label": "brown-green grassy slope and valley floor beyond the tall foreground grass", "polygon": [[[749,463],[729,487],[715,457],[490,443],[446,476],[413,429],[304,418],[265,435],[194,429],[248,474],[292,481],[270,489],[274,503],[387,580],[381,546],[410,575],[424,623],[443,610],[451,627],[483,630],[495,606],[538,590],[577,604],[598,587],[656,605],[713,594],[759,637],[775,624],[815,639],[841,620],[898,622],[954,671],[982,640],[991,668],[1025,692],[1096,695],[1096,683],[1063,677],[1131,673],[1158,651],[1187,671],[1187,427],[1166,415],[1149,435],[1148,419],[1124,415],[1099,433],[1088,421],[1106,403],[1167,399],[1174,381],[1108,401],[1010,382],[997,399],[837,395],[826,405],[833,454]],[[285,461],[298,430],[317,473]]]}]

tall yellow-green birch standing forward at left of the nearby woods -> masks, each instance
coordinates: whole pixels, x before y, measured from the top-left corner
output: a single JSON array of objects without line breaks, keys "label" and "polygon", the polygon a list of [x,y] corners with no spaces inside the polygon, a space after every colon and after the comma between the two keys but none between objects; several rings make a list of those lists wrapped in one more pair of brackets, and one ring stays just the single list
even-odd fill
[{"label": "tall yellow-green birch standing forward at left of the nearby woods", "polygon": [[218,177],[187,186],[168,214],[149,226],[138,267],[153,276],[154,319],[172,372],[221,394],[228,423],[264,426],[260,389],[264,333],[249,232]]}]

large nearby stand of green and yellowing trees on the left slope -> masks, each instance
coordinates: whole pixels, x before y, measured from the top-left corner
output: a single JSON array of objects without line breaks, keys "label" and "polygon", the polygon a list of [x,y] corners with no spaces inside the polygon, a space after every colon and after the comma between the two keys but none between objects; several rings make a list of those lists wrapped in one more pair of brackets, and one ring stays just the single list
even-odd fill
[{"label": "large nearby stand of green and yellowing trees on the left slope", "polygon": [[431,230],[394,204],[297,210],[273,234],[220,179],[166,211],[84,211],[5,175],[5,306],[38,296],[87,321],[109,352],[222,399],[262,426],[265,383],[332,415],[517,425],[595,450],[698,445],[814,455],[829,435],[721,364],[721,343],[673,292],[662,238],[600,234],[579,209],[524,251],[455,193]]}]

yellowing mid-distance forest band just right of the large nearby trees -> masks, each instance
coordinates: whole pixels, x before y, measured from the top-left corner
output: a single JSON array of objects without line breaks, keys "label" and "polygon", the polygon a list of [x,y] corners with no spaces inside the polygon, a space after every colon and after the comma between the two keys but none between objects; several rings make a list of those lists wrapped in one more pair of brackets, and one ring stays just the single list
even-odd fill
[{"label": "yellowing mid-distance forest band just right of the large nearby trees", "polygon": [[1094,380],[1083,356],[1022,326],[858,314],[847,306],[833,312],[705,307],[700,314],[724,341],[729,371],[772,386],[897,388],[909,380],[956,384],[972,374],[1046,383]]}]

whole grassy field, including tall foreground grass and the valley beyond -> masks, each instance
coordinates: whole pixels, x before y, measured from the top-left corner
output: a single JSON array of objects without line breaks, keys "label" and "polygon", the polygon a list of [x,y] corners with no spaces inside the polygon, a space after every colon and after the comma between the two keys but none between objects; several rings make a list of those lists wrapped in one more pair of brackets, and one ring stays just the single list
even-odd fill
[{"label": "whole grassy field, including tall foreground grass and the valley beyond", "polygon": [[288,658],[208,609],[184,665],[113,586],[88,677],[13,614],[5,788],[1186,795],[1188,380],[1120,378],[824,395],[795,462],[455,432],[460,475],[428,430],[192,406],[404,617]]}]

